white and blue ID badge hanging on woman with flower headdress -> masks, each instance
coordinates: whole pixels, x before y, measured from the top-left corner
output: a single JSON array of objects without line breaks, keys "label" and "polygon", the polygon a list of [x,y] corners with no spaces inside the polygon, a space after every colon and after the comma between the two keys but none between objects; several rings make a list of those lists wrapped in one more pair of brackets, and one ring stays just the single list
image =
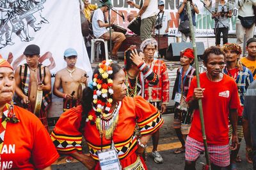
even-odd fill
[{"label": "white and blue ID badge hanging on woman with flower headdress", "polygon": [[122,170],[115,148],[98,151],[97,153],[101,170]]}]

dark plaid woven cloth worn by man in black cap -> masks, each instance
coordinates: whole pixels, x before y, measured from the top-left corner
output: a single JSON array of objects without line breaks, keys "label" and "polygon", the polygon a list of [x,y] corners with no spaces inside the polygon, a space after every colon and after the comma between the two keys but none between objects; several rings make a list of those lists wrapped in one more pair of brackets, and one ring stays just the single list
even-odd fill
[{"label": "dark plaid woven cloth worn by man in black cap", "polygon": [[[45,77],[45,66],[42,64],[38,64],[38,77],[41,79],[42,83],[44,83],[44,77]],[[30,89],[30,83],[29,83],[29,69],[28,69],[28,64],[24,64],[20,66],[20,89],[22,92],[26,95],[29,96],[29,89]],[[43,92],[43,99],[42,99],[42,108],[43,110],[47,110],[47,108],[50,106],[51,101],[52,101],[52,94],[51,92]],[[28,104],[23,103],[23,100],[21,97],[17,96],[15,94],[15,103],[17,103],[18,106],[22,108],[28,108]],[[33,111],[32,111],[33,113]]]}]

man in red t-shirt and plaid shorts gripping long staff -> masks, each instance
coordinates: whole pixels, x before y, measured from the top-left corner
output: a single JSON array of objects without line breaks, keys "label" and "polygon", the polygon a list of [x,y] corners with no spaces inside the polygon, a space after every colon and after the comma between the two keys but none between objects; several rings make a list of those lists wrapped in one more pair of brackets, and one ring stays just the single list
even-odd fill
[{"label": "man in red t-shirt and plaid shorts gripping long staff", "polygon": [[[225,53],[216,46],[207,48],[203,54],[205,73],[200,74],[200,88],[196,77],[191,81],[186,101],[194,108],[191,129],[186,140],[186,170],[195,169],[200,152],[204,151],[198,99],[202,99],[205,134],[212,169],[221,169],[230,164],[229,150],[237,148],[237,108],[240,105],[236,82],[221,73]],[[233,127],[232,145],[228,145],[228,116]]]}]

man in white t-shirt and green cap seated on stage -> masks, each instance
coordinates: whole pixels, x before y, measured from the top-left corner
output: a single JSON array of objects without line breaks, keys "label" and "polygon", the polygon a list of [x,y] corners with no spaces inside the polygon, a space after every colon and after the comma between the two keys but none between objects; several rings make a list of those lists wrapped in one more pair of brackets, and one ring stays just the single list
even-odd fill
[{"label": "man in white t-shirt and green cap seated on stage", "polygon": [[[108,0],[105,4],[100,4],[99,9],[95,10],[92,17],[93,34],[96,38],[102,38],[109,40],[110,35],[107,27],[109,23],[105,23],[104,13],[108,11],[108,6],[112,6],[111,1]],[[113,25],[115,17],[111,17],[110,24]],[[122,32],[111,31],[111,39],[115,43],[112,49],[113,57],[117,57],[117,51],[125,40],[125,36]]]}]

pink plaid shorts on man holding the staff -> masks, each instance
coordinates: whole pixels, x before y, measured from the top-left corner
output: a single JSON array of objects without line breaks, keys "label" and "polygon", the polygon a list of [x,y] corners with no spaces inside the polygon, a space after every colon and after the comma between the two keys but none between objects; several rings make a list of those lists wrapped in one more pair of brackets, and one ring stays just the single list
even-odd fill
[{"label": "pink plaid shorts on man holding the staff", "polygon": [[[185,159],[195,161],[202,151],[204,151],[204,143],[188,136]],[[212,164],[220,167],[227,167],[230,164],[229,145],[208,145],[208,152]]]}]

